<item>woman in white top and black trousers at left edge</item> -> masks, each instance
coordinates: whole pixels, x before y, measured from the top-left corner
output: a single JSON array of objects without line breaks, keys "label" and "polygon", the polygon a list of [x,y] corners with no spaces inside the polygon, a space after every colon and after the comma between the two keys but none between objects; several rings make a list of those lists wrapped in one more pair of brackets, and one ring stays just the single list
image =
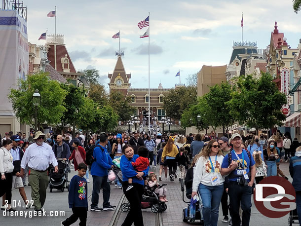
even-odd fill
[{"label": "woman in white top and black trousers at left edge", "polygon": [[12,164],[13,157],[10,153],[12,148],[12,141],[10,139],[6,139],[3,141],[3,147],[0,148],[0,197],[2,197],[6,193],[7,203],[2,208],[6,208],[7,211],[12,212],[16,211],[11,208],[11,187],[12,187],[12,171],[14,166]]}]

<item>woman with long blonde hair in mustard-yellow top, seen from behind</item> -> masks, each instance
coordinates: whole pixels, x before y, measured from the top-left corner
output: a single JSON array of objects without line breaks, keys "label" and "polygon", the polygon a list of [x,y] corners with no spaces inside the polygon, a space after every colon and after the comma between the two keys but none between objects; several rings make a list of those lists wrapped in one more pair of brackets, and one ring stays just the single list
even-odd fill
[{"label": "woman with long blonde hair in mustard-yellow top, seen from behind", "polygon": [[174,175],[177,171],[177,159],[176,156],[179,153],[177,146],[174,144],[174,139],[169,138],[163,149],[161,161],[164,162],[166,159],[166,164],[169,168],[169,178],[170,181],[174,181]]}]

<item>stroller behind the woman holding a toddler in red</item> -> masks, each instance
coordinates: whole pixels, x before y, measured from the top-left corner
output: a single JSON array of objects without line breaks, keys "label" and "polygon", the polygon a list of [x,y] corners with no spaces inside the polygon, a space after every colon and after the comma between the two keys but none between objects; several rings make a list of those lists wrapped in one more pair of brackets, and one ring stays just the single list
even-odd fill
[{"label": "stroller behind the woman holding a toddler in red", "polygon": [[[123,182],[121,170],[119,168],[114,168],[113,172],[116,174],[119,182],[122,184]],[[159,188],[162,188],[163,186],[166,186],[166,184],[159,185]],[[160,213],[167,209],[167,205],[165,202],[161,202],[159,200],[158,195],[154,192],[155,189],[155,186],[152,188],[148,186],[147,191],[142,195],[141,209],[151,208],[151,212]],[[122,212],[127,212],[130,208],[131,206],[128,202],[122,203],[120,206]]]}]

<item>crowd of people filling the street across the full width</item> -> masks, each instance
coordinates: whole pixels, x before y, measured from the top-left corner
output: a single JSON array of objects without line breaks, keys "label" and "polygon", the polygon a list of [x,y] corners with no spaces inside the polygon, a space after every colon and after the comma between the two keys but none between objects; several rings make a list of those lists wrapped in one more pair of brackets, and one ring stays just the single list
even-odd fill
[{"label": "crowd of people filling the street across the full width", "polygon": [[[57,158],[69,162],[78,172],[70,182],[69,204],[73,215],[62,222],[64,226],[73,224],[78,218],[81,225],[85,225],[87,215],[79,212],[88,211],[89,175],[93,178],[90,210],[115,209],[110,203],[108,171],[116,167],[113,164],[116,158],[120,159],[123,186],[117,178],[113,183],[115,188],[123,188],[131,205],[123,226],[133,223],[143,226],[140,207],[142,195],[147,186],[158,185],[163,176],[165,181],[170,182],[179,177],[179,181],[185,181],[188,197],[200,197],[205,226],[217,226],[220,204],[224,216],[222,222],[229,222],[230,226],[248,226],[255,184],[268,176],[278,175],[288,179],[279,168],[281,161],[290,161],[297,206],[301,205],[301,181],[296,176],[296,169],[300,166],[294,165],[301,158],[300,143],[297,138],[292,140],[289,133],[282,135],[277,131],[267,138],[263,133],[259,136],[241,136],[236,132],[218,138],[215,131],[210,136],[203,133],[186,136],[157,133],[153,136],[137,130],[131,134],[126,131],[118,134],[79,132],[73,136],[70,132],[54,134],[51,131],[44,134],[37,131],[28,138],[25,133],[13,135],[9,132],[1,139],[1,209],[15,211],[11,207],[13,188],[19,189],[26,208],[30,208],[24,190],[27,186],[26,176],[29,174],[28,185],[31,186],[34,208],[40,212],[46,199],[49,168],[53,167],[54,172],[58,171]],[[157,165],[159,182],[153,172],[148,175],[149,169],[156,168]],[[177,174],[178,167],[180,175]],[[81,189],[77,189],[78,183],[81,184]],[[99,207],[101,190],[103,206]],[[79,191],[81,193],[78,195]],[[168,201],[166,188],[156,188],[155,192],[161,202]]]}]

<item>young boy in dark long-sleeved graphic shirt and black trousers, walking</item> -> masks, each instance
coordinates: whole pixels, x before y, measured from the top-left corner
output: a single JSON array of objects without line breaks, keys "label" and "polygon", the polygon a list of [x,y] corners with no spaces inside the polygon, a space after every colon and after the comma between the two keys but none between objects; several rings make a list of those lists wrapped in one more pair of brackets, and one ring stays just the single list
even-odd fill
[{"label": "young boy in dark long-sleeved graphic shirt and black trousers, walking", "polygon": [[87,181],[83,177],[86,175],[87,166],[82,162],[78,164],[78,175],[75,175],[70,181],[69,188],[69,208],[72,208],[73,214],[62,221],[62,226],[70,226],[79,218],[79,226],[86,226],[88,211],[88,188]]}]

